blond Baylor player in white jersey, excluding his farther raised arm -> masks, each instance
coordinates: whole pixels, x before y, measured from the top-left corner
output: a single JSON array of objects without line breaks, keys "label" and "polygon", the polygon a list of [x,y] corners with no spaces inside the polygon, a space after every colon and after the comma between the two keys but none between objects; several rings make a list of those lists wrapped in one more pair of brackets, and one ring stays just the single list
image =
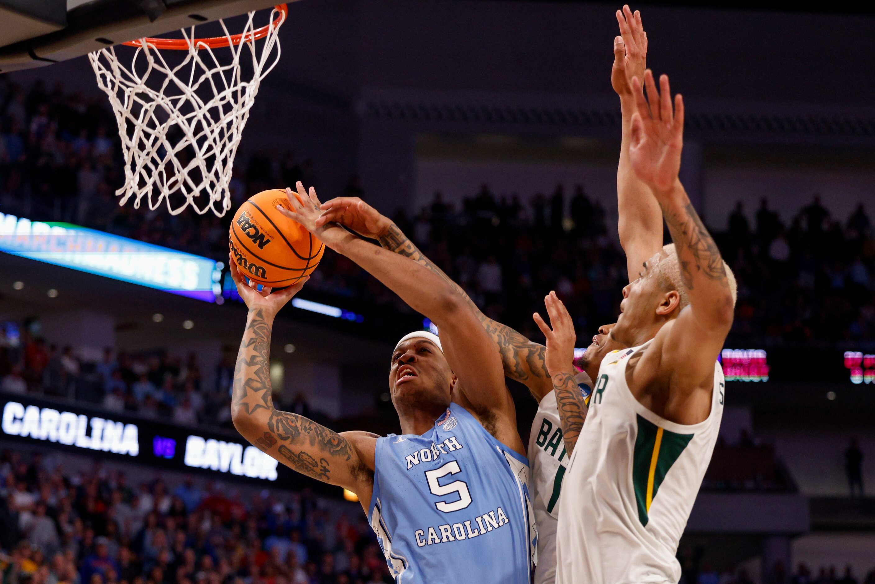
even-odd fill
[{"label": "blond Baylor player in white jersey, excluding his farther raised arm", "polygon": [[647,97],[637,75],[630,84],[628,162],[674,243],[642,262],[623,289],[610,334],[630,348],[602,362],[579,439],[598,454],[576,451],[565,478],[556,569],[562,584],[680,579],[677,544],[723,414],[717,357],[732,327],[735,280],[678,179],[683,98],[676,95],[672,107],[666,75],[657,89],[648,70],[644,85]]}]

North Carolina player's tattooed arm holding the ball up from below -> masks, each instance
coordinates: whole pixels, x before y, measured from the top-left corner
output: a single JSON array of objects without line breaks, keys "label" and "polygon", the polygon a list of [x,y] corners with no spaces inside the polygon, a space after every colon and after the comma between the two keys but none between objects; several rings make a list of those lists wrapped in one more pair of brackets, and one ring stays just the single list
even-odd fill
[{"label": "North Carolina player's tattooed arm holding the ball up from below", "polygon": [[243,438],[277,461],[318,481],[338,485],[370,501],[374,484],[376,437],[335,433],[273,405],[270,388],[270,334],[274,317],[304,282],[270,293],[256,292],[242,278],[234,258],[231,277],[249,307],[240,343],[231,398],[231,418]]}]

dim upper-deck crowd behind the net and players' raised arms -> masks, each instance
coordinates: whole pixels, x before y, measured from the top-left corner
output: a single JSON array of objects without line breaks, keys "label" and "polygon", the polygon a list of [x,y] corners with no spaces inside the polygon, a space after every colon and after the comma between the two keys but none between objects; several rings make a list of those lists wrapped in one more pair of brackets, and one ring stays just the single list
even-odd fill
[{"label": "dim upper-deck crowd behind the net and players' raised arms", "polygon": [[[255,152],[235,169],[235,205],[276,184],[316,182],[310,160]],[[37,81],[19,87],[0,76],[0,210],[77,222],[227,260],[230,214],[169,215],[119,207],[123,182],[116,121],[102,96],[86,99]],[[357,179],[343,193],[363,195]],[[605,209],[582,186],[562,185],[527,200],[483,185],[461,208],[440,193],[427,208],[401,209],[395,221],[489,316],[534,338],[530,314],[555,289],[581,334],[612,322],[627,283],[622,250],[609,236]],[[716,234],[739,279],[731,340],[763,343],[871,341],[875,337],[875,239],[860,205],[846,221],[815,197],[788,224],[762,201],[756,221],[739,207]],[[308,291],[359,305],[406,310],[345,257],[325,254]]]}]

